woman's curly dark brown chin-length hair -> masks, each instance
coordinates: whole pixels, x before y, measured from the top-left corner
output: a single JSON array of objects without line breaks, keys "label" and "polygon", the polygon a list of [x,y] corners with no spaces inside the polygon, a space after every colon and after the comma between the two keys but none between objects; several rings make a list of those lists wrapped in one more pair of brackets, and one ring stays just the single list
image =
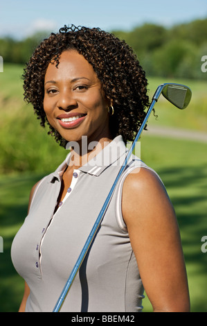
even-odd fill
[{"label": "woman's curly dark brown chin-length hair", "polygon": [[[149,106],[147,79],[132,48],[112,33],[100,28],[60,28],[37,46],[24,69],[24,100],[32,103],[41,126],[48,123],[43,108],[44,76],[50,62],[59,64],[63,51],[75,49],[82,54],[96,72],[107,98],[114,104],[114,114],[109,119],[112,137],[122,135],[125,143],[132,141],[145,118]],[[66,141],[48,123],[51,134],[60,146]]]}]

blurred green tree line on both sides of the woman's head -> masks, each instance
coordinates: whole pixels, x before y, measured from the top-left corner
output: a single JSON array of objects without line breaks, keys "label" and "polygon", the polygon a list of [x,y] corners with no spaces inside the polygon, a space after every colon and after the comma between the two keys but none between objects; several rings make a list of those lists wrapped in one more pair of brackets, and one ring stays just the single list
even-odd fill
[{"label": "blurred green tree line on both sides of the woman's head", "polygon": [[[136,53],[148,76],[206,79],[201,58],[207,55],[207,18],[196,19],[170,28],[143,24],[132,31],[111,31],[125,40]],[[24,40],[0,39],[4,62],[25,64],[35,47],[48,33],[35,33]]]}]

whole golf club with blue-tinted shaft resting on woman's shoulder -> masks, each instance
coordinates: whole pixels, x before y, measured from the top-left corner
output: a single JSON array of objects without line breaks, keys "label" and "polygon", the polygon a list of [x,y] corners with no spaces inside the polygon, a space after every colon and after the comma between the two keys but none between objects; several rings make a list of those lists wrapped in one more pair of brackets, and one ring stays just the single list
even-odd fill
[{"label": "whole golf club with blue-tinted shaft resting on woman's shoulder", "polygon": [[163,94],[163,96],[170,103],[172,103],[173,105],[175,105],[177,108],[179,108],[181,110],[185,109],[188,106],[188,104],[190,103],[191,95],[192,95],[190,88],[185,85],[174,84],[174,83],[163,83],[163,84],[159,85],[159,87],[157,87],[156,92],[154,93],[154,96],[152,97],[152,103],[150,104],[150,108],[147,110],[145,119],[143,120],[143,123],[138,130],[138,133],[134,139],[134,142],[132,143],[132,146],[129,148],[127,156],[125,157],[125,162],[120,167],[120,171],[118,172],[116,180],[114,181],[114,184],[112,185],[111,190],[109,191],[109,194],[105,200],[105,203],[102,206],[100,213],[98,214],[98,218],[96,219],[96,222],[93,225],[93,228],[89,234],[89,237],[87,238],[87,241],[84,244],[84,247],[82,248],[82,252],[80,252],[80,256],[78,257],[78,260],[76,261],[76,264],[73,267],[71,275],[69,276],[69,279],[66,281],[64,289],[62,290],[62,293],[60,294],[60,297],[57,300],[57,303],[55,304],[53,312],[60,311],[62,304],[64,303],[64,300],[66,298],[66,295],[67,295],[67,293],[69,293],[69,289],[71,288],[73,280],[75,279],[75,276],[78,273],[80,266],[82,265],[82,261],[83,261],[84,257],[87,255],[87,252],[89,250],[91,242],[93,241],[93,238],[95,237],[96,232],[98,231],[100,223],[102,222],[102,218],[105,215],[107,207],[109,206],[111,196],[114,193],[114,189],[118,183],[118,180],[120,179],[120,175],[123,174],[123,171],[125,170],[125,167],[127,166],[127,162],[129,161],[129,158],[132,155],[132,152],[134,150],[136,142],[138,141],[139,137],[141,136],[141,132],[143,131],[143,128],[145,128],[147,119],[150,117],[150,113],[152,112],[152,109],[154,108],[154,104],[158,101],[159,96],[161,94]]}]

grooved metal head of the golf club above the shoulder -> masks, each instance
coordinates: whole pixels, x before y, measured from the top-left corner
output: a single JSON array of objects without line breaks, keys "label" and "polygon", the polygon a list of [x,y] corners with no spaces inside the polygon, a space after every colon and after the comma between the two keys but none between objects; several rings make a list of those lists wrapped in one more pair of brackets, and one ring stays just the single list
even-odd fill
[{"label": "grooved metal head of the golf club above the shoulder", "polygon": [[177,108],[183,110],[190,103],[192,92],[186,85],[166,83],[162,89],[163,96]]}]

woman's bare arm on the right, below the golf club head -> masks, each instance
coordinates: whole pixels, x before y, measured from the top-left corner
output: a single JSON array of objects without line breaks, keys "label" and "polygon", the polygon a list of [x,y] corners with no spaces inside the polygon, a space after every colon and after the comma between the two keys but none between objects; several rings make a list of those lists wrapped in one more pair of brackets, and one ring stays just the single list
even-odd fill
[{"label": "woman's bare arm on the right, below the golf club head", "polygon": [[153,310],[189,311],[177,218],[163,184],[152,171],[143,168],[127,176],[123,217]]}]

